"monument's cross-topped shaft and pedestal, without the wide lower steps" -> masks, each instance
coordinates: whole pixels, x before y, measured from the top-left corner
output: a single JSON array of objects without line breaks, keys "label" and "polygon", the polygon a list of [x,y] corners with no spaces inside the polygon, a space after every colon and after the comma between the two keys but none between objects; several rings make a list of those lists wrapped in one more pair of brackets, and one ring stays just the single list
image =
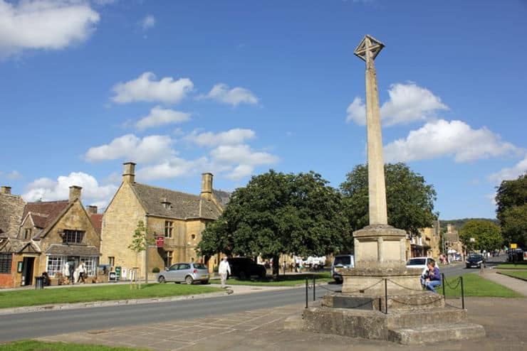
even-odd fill
[{"label": "monument's cross-topped shaft and pedestal, without the wide lower steps", "polygon": [[343,273],[343,293],[362,291],[365,295],[379,295],[385,287],[375,285],[379,279],[390,279],[397,284],[392,291],[402,293],[419,288],[415,272],[405,266],[406,232],[388,225],[385,187],[385,165],[382,157],[379,93],[374,60],[384,44],[366,35],[354,54],[366,63],[367,163],[370,225],[353,232],[355,269]]}]

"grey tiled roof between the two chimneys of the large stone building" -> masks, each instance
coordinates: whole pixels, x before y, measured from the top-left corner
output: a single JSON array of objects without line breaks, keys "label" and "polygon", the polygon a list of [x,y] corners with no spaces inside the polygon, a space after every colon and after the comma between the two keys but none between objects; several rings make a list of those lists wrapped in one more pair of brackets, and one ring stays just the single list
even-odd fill
[{"label": "grey tiled roof between the two chimneys of the large stone building", "polygon": [[[140,183],[130,183],[130,185],[148,215],[178,220],[188,218],[216,220],[220,215],[220,210],[212,201],[207,201],[199,195],[180,193]],[[169,205],[162,203],[165,200],[169,202]]]}]

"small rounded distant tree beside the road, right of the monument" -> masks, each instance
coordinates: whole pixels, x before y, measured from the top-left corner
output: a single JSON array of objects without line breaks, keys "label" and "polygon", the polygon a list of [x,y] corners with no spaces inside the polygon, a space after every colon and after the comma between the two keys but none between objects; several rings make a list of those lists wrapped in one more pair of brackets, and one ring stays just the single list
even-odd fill
[{"label": "small rounded distant tree beside the road, right of the monument", "polygon": [[[474,241],[471,241],[471,238]],[[459,239],[467,250],[486,250],[490,252],[500,249],[503,244],[501,230],[489,220],[469,220],[459,229]]]}]

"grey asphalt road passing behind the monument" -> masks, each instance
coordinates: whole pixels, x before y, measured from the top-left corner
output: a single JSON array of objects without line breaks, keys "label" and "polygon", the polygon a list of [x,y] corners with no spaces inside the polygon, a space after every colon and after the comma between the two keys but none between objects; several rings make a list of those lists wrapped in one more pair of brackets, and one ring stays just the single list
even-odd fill
[{"label": "grey asphalt road passing behind the monument", "polygon": [[[489,266],[503,261],[504,257],[495,257]],[[464,264],[443,266],[446,276],[476,272],[466,269]],[[340,284],[328,284],[316,289],[316,297],[328,291],[340,291]],[[308,291],[308,298],[313,299],[313,291]],[[127,325],[159,323],[167,320],[184,320],[202,318],[209,315],[221,315],[251,311],[258,308],[286,306],[293,303],[305,303],[305,288],[231,295],[221,298],[204,298],[195,301],[178,301],[167,303],[145,303],[132,306],[110,306],[100,308],[81,308],[63,311],[44,311],[36,313],[18,313],[2,315],[0,318],[0,342],[37,338],[46,335],[79,330],[104,330]]]}]

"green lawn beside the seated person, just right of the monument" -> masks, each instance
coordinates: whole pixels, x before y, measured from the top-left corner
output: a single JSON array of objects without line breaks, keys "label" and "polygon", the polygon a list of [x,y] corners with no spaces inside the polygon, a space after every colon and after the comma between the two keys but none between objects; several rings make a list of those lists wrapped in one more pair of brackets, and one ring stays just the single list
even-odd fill
[{"label": "green lawn beside the seated person, just right of the monument", "polygon": [[[445,296],[461,296],[461,284],[457,285],[459,277],[446,278],[447,284],[445,287]],[[444,284],[444,283],[443,283]],[[451,288],[456,287],[455,289]],[[465,296],[486,296],[486,297],[500,297],[500,298],[521,298],[523,295],[516,293],[505,286],[494,283],[481,278],[478,274],[464,274],[463,275],[463,286]],[[443,292],[443,287],[437,288],[438,293]]]}]

